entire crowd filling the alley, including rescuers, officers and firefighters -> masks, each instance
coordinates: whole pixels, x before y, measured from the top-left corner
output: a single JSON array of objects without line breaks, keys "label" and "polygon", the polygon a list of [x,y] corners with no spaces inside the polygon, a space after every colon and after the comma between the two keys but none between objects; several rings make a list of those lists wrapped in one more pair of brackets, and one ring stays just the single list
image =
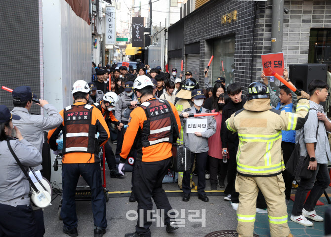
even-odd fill
[{"label": "entire crowd filling the alley, including rescuers, officers and firefighters", "polygon": [[[39,100],[37,105],[45,109],[46,118],[29,114],[36,97],[29,86],[15,88],[14,109],[10,112],[0,105],[0,156],[6,159],[0,165],[0,235],[24,233],[32,237],[45,232],[42,209],[32,211],[29,182],[20,174],[8,145],[26,170],[30,167],[42,173],[44,131],[48,131],[49,147],[62,149],[61,217],[63,233],[71,237],[78,236],[75,190],[80,175],[91,188],[94,236],[106,233],[99,157],[102,146],[111,178],[124,175],[125,163],[133,165],[129,201],[137,201],[139,214],[135,232],[125,237],[151,236],[151,198],[158,209],[165,210],[166,232],[178,229],[170,222],[172,208],[162,183],[178,184],[182,200],[189,201],[195,187],[193,175],[198,176],[198,198],[204,202],[209,200],[206,180],[211,190],[225,189],[224,201],[231,201],[237,210],[240,237],[253,235],[256,212],[268,213],[271,237],[292,237],[287,205],[293,176],[285,166],[296,143],[301,156],[308,157],[311,173],[299,180],[290,220],[305,226],[313,225],[310,220],[324,220],[314,207],[330,184],[327,164],[331,152],[326,131],[331,131],[331,121],[321,106],[328,96],[325,81],[313,80],[309,95],[301,91],[300,96],[282,85],[277,96],[262,72],[263,82],[252,82],[245,96],[239,83],[225,87],[223,77],[212,85],[207,68],[206,89],[190,71],[177,75],[176,68],[169,74],[149,65],[96,67],[92,62],[91,81],[77,80],[73,85],[73,105],[57,112],[47,101]],[[286,69],[283,77],[290,83]],[[206,118],[205,129],[188,131],[188,119],[193,115]],[[61,132],[60,149],[57,139]],[[115,151],[108,140],[116,145]],[[184,172],[169,170],[174,143],[190,150],[192,162]],[[305,201],[308,191],[311,193]],[[17,221],[20,226],[13,224]]]}]

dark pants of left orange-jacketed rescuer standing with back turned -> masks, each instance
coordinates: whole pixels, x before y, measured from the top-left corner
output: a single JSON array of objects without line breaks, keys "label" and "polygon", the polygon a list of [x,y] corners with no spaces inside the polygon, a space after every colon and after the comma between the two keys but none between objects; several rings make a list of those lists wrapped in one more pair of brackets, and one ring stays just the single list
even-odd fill
[{"label": "dark pants of left orange-jacketed rescuer standing with back turned", "polygon": [[94,226],[107,228],[106,198],[102,189],[99,163],[74,163],[62,166],[62,208],[63,224],[68,229],[77,227],[75,193],[80,175],[91,188]]}]

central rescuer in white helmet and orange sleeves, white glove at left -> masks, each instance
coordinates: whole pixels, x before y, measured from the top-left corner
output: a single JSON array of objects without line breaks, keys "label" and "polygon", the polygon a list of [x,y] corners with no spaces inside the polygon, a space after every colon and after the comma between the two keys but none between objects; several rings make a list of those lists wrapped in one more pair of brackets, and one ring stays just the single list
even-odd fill
[{"label": "central rescuer in white helmet and orange sleeves, white glove at left", "polygon": [[[162,218],[166,232],[178,229],[178,226],[173,226],[175,222],[170,224],[169,211],[172,207],[162,188],[162,180],[170,166],[172,142],[178,136],[176,129],[180,131],[180,119],[172,104],[153,96],[153,83],[147,76],[135,79],[133,87],[142,104],[132,111],[128,119],[120,154],[119,172],[122,172],[136,138],[139,148],[134,161],[133,191],[138,202],[139,214],[136,232],[125,234],[125,237],[150,237],[149,227],[152,222],[148,220],[152,217],[152,197],[157,208],[164,210]],[[174,134],[176,136],[173,136]]]}]

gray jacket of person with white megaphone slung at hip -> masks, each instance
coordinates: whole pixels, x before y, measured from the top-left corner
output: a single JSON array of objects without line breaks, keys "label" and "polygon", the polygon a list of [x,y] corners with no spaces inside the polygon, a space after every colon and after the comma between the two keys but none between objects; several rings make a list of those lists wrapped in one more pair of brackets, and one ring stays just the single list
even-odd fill
[{"label": "gray jacket of person with white megaphone slung at hip", "polygon": [[[25,139],[10,140],[10,145],[28,171],[28,166],[37,166],[42,162],[40,152]],[[30,184],[23,171],[11,155],[7,141],[0,142],[0,203],[17,206],[29,205]],[[22,199],[23,198],[23,199]]]}]

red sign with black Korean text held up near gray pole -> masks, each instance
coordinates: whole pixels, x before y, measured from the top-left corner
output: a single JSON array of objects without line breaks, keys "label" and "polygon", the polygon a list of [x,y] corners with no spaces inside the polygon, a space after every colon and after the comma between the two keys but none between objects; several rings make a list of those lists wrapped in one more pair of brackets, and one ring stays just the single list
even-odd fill
[{"label": "red sign with black Korean text held up near gray pole", "polygon": [[262,54],[262,71],[265,76],[272,76],[272,72],[276,72],[279,75],[283,75],[284,65],[284,54],[283,53],[268,53]]}]

